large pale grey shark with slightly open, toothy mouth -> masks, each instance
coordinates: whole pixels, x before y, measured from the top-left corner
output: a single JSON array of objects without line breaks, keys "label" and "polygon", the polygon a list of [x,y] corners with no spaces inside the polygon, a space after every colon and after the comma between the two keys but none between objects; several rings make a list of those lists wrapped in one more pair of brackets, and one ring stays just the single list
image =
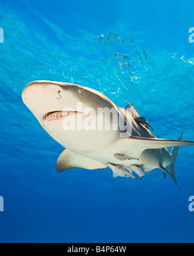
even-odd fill
[{"label": "large pale grey shark with slightly open, toothy mouth", "polygon": [[[178,140],[157,139],[131,103],[119,108],[89,87],[36,81],[23,89],[22,99],[46,132],[65,148],[56,163],[58,172],[110,167],[113,176],[142,178],[153,169],[162,169],[164,178],[169,174],[177,184],[178,148],[194,145],[182,141],[182,135]],[[173,150],[169,153],[167,147]]]}]

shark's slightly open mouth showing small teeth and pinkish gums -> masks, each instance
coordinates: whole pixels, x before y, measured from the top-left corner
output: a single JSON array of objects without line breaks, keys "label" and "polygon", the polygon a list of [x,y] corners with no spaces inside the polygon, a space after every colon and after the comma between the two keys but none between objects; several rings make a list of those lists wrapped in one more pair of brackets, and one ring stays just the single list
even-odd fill
[{"label": "shark's slightly open mouth showing small teeth and pinkish gums", "polygon": [[45,121],[55,121],[59,120],[63,117],[69,117],[70,115],[85,115],[85,113],[78,112],[78,111],[54,111],[54,112],[49,112],[43,116],[43,119]]}]

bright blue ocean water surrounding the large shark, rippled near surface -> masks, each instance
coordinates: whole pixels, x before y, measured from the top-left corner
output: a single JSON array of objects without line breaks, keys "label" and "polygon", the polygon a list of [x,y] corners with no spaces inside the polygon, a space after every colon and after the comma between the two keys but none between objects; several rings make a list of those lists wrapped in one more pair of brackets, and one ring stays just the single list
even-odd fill
[{"label": "bright blue ocean water surrounding the large shark, rippled near surface", "polygon": [[194,242],[194,147],[180,148],[178,186],[161,170],[59,174],[63,147],[21,100],[28,82],[74,82],[132,102],[157,137],[194,140],[193,10],[189,0],[1,1],[0,242]]}]

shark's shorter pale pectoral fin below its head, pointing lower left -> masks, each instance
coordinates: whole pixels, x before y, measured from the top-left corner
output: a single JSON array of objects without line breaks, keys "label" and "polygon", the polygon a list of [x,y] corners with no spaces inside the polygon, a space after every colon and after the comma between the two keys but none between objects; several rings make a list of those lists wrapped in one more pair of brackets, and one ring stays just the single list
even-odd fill
[{"label": "shark's shorter pale pectoral fin below its head, pointing lower left", "polygon": [[73,168],[81,168],[88,170],[105,169],[107,165],[91,159],[89,157],[77,154],[68,149],[63,150],[56,163],[56,169],[58,172],[63,170],[69,170]]}]

